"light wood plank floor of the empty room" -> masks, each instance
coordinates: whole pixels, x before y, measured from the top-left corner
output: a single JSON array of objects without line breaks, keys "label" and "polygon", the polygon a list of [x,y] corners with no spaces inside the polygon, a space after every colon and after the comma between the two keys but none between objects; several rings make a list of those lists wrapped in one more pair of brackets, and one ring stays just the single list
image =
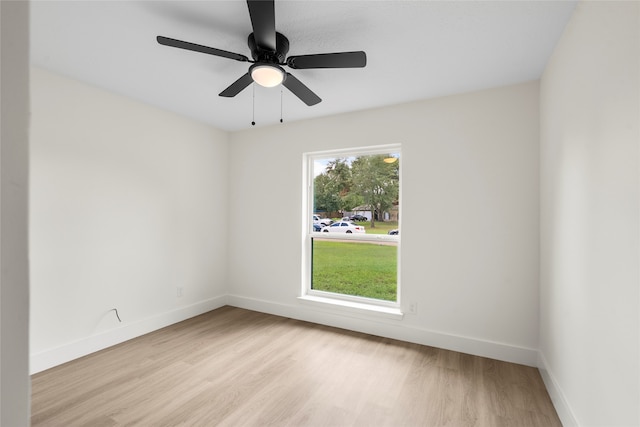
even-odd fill
[{"label": "light wood plank floor of the empty room", "polygon": [[535,368],[223,307],[32,377],[33,426],[561,426]]}]

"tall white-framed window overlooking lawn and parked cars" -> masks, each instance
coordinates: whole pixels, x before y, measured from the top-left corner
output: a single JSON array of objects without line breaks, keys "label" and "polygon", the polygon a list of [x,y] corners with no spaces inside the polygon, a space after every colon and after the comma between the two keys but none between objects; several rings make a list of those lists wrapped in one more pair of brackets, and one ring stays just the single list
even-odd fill
[{"label": "tall white-framed window overlooking lawn and parked cars", "polygon": [[399,307],[400,146],[305,155],[304,295]]}]

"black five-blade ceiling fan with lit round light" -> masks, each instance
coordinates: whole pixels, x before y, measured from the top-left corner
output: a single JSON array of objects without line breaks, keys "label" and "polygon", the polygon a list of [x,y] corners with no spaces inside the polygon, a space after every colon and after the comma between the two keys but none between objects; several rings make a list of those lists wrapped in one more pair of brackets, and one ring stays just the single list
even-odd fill
[{"label": "black five-blade ceiling fan with lit round light", "polygon": [[283,66],[294,70],[303,70],[310,68],[362,68],[367,65],[367,55],[362,51],[296,55],[287,58],[289,40],[276,32],[274,0],[247,0],[247,6],[253,27],[253,33],[249,34],[248,40],[253,60],[239,53],[169,37],[158,36],[156,40],[165,46],[251,63],[252,65],[246,74],[220,92],[220,96],[228,98],[236,96],[252,82],[265,87],[275,87],[282,84],[302,102],[311,106],[319,103],[322,99],[291,73],[285,71]]}]

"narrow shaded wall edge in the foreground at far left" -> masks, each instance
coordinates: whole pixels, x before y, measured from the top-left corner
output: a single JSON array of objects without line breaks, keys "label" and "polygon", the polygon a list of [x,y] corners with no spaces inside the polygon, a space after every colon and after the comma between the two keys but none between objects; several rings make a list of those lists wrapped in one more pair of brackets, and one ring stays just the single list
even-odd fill
[{"label": "narrow shaded wall edge in the foreground at far left", "polygon": [[0,425],[29,425],[29,3],[0,2]]}]

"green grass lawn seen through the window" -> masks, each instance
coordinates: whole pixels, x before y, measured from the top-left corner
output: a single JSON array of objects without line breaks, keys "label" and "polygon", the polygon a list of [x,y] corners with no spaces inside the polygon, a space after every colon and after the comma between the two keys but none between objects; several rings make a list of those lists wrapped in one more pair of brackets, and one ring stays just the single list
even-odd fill
[{"label": "green grass lawn seen through the window", "polygon": [[[386,234],[386,230],[391,228],[394,227],[376,227],[375,230],[381,231],[378,234]],[[370,233],[369,228],[366,231]],[[316,238],[313,242],[312,288],[395,301],[397,259],[398,250],[395,245],[335,242]]]}]

